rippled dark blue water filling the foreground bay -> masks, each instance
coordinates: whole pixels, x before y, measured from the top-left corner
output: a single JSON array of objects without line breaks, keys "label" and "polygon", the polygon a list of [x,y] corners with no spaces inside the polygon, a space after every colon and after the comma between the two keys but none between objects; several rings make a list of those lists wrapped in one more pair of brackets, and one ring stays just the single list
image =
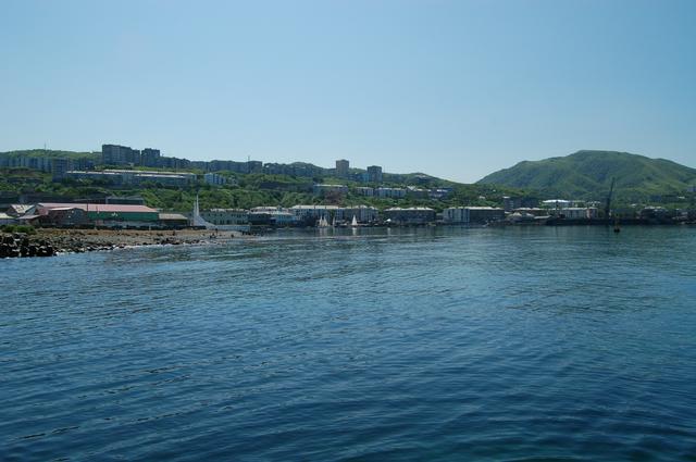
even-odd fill
[{"label": "rippled dark blue water filling the foreground bay", "polygon": [[696,460],[696,228],[0,261],[0,460]]}]

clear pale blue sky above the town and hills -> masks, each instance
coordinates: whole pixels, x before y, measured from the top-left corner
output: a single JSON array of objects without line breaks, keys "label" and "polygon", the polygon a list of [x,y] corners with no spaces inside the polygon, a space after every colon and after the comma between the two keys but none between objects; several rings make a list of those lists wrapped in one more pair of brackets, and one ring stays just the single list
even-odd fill
[{"label": "clear pale blue sky above the town and hills", "polygon": [[0,151],[383,165],[474,182],[607,149],[696,166],[696,1],[32,1]]}]

